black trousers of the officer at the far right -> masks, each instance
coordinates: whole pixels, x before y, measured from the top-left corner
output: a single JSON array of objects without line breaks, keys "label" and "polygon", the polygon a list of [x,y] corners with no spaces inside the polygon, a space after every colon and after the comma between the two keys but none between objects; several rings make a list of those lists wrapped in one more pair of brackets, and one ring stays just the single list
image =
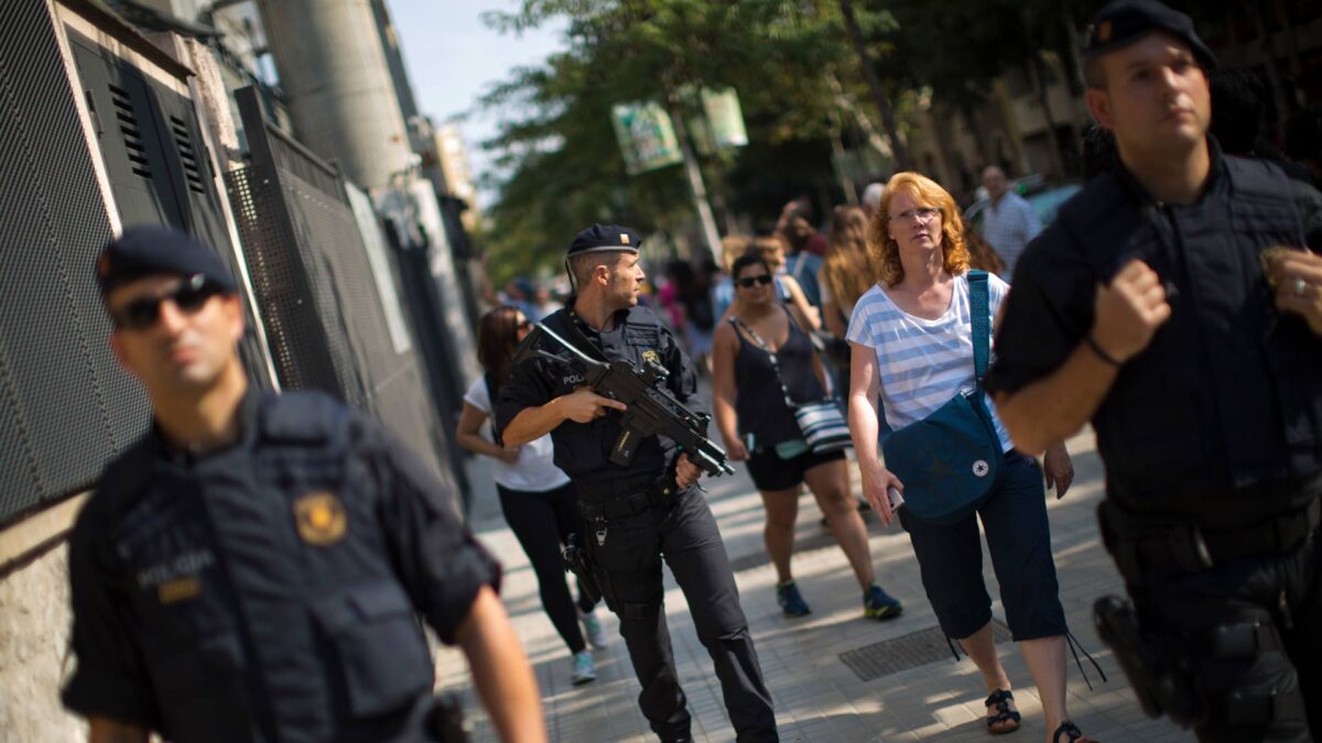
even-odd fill
[{"label": "black trousers of the officer at the far right", "polygon": [[1265,554],[1218,559],[1204,545],[1202,570],[1179,567],[1178,538],[1145,570],[1117,559],[1144,635],[1191,680],[1199,740],[1322,740],[1322,533],[1310,529]]}]

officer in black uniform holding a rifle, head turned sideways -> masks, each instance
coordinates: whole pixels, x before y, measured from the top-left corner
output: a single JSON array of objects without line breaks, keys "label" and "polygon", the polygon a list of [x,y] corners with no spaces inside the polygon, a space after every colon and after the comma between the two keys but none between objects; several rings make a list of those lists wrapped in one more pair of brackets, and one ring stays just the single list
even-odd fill
[{"label": "officer in black uniform holding a rifle, head turned sideways", "polygon": [[[681,401],[697,395],[697,377],[670,331],[639,305],[639,235],[594,225],[570,245],[566,267],[575,293],[542,323],[588,356],[656,362]],[[558,346],[543,338],[543,350]],[[545,358],[517,365],[501,387],[496,423],[506,446],[551,434],[555,464],[578,488],[590,554],[605,574],[607,606],[620,617],[642,685],[639,705],[662,740],[690,740],[665,623],[661,559],[689,600],[698,639],[711,654],[739,740],[777,740],[771,694],[739,606],[730,558],[715,518],[697,488],[701,469],[673,442],[653,436],[632,465],[609,461],[624,405],[595,394],[576,372]]]}]

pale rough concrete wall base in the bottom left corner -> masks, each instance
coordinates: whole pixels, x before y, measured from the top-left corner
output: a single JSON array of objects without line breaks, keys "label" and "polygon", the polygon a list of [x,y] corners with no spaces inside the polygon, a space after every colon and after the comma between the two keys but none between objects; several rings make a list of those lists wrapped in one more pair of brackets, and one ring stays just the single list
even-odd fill
[{"label": "pale rough concrete wall base in the bottom left corner", "polygon": [[0,576],[0,742],[86,740],[86,724],[59,705],[70,620],[67,549],[61,542],[16,565]]}]

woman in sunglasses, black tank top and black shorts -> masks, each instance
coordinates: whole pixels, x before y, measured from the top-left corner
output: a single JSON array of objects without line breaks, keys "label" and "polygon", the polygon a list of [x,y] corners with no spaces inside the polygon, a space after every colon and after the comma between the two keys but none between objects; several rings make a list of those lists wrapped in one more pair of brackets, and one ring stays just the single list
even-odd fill
[{"label": "woman in sunglasses, black tank top and black shorts", "polygon": [[822,365],[802,329],[806,319],[776,301],[771,268],[760,255],[735,260],[731,276],[735,301],[713,344],[713,411],[730,459],[748,463],[767,509],[763,538],[776,566],[776,599],[787,615],[812,611],[789,570],[798,488],[808,483],[858,579],[863,616],[898,616],[899,602],[875,583],[843,452],[813,453],[795,419],[795,406],[826,397]]}]

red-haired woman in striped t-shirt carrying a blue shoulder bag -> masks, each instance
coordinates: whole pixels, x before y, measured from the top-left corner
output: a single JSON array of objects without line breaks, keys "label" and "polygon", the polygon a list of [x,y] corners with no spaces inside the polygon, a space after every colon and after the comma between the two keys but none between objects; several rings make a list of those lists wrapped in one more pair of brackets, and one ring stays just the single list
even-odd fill
[{"label": "red-haired woman in striped t-shirt carrying a blue shoulder bag", "polygon": [[[896,504],[899,498],[912,501],[899,508],[899,520],[914,545],[923,588],[941,631],[960,643],[982,673],[988,730],[999,734],[1019,727],[1019,713],[992,636],[992,598],[982,582],[978,541],[981,518],[1006,621],[1038,687],[1047,730],[1052,731],[1047,740],[1076,740],[1080,735],[1066,710],[1066,619],[1051,557],[1043,472],[1036,460],[1015,450],[989,414],[992,451],[988,459],[972,463],[972,476],[974,481],[989,477],[990,483],[982,485],[978,500],[951,518],[937,520],[920,517],[914,509],[928,502],[921,498],[935,500],[964,487],[968,471],[892,459],[894,450],[887,452],[884,467],[878,457],[879,399],[884,401],[891,438],[910,435],[904,431],[908,426],[935,423],[933,416],[948,403],[968,399],[970,391],[976,399],[969,405],[982,405],[978,356],[985,358],[989,349],[980,352],[974,327],[982,327],[985,342],[986,325],[1007,286],[994,275],[970,275],[956,209],[951,194],[931,178],[898,173],[886,185],[871,223],[871,242],[882,256],[882,282],[858,300],[849,324],[849,420],[863,494],[883,524],[895,514],[890,489],[896,493]],[[973,301],[974,293],[981,293],[980,303]],[[1047,484],[1056,488],[1058,497],[1063,496],[1073,479],[1064,446],[1052,446],[1044,463]],[[921,493],[916,488],[907,492],[904,477],[896,476],[896,471],[916,476],[933,468],[939,476],[929,476],[935,484]]]}]

